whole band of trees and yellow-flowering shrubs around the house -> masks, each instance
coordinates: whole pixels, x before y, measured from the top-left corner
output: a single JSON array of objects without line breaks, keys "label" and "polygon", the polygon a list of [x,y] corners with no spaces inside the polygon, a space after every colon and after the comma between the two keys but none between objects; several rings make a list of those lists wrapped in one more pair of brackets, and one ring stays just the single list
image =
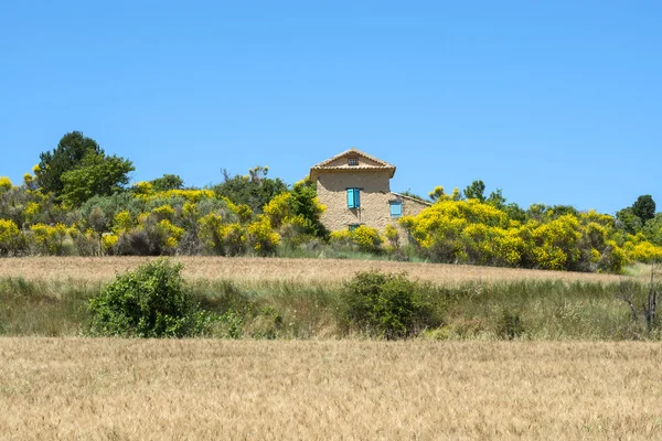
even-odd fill
[{"label": "whole band of trees and yellow-flowering shrubs around the house", "polygon": [[[572,206],[523,209],[476,181],[399,219],[402,228],[327,232],[307,180],[287,185],[268,168],[223,171],[209,187],[181,178],[129,185],[130,160],[81,132],[40,155],[20,185],[0,178],[0,256],[220,255],[362,257],[573,271],[621,272],[662,258],[662,213],[650,195],[616,216]],[[409,196],[419,197],[407,193]]]}]

